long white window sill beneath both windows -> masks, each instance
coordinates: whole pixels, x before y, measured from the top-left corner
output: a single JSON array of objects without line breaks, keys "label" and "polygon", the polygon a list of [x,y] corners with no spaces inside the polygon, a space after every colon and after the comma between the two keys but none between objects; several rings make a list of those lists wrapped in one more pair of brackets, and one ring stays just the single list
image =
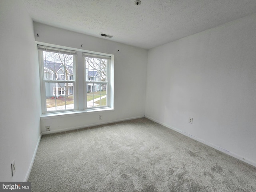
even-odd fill
[{"label": "long white window sill beneath both windows", "polygon": [[111,111],[114,110],[114,108],[100,108],[100,109],[89,109],[89,110],[76,110],[76,111],[67,111],[67,112],[56,112],[56,113],[47,113],[42,114],[40,116],[40,120],[44,119],[52,119],[52,118],[60,118],[65,116],[77,116],[77,115],[84,115],[84,114],[92,114],[97,112],[103,112],[103,111]]}]

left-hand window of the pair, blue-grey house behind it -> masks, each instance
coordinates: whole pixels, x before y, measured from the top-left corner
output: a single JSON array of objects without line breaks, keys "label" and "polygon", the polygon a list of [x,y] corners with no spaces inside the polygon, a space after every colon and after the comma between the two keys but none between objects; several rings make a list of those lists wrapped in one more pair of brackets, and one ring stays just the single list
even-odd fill
[{"label": "left-hand window of the pair, blue-grey house behind it", "polygon": [[[41,74],[42,113],[75,109],[73,87],[76,51],[38,46]],[[64,73],[64,74],[59,74]],[[50,78],[52,77],[52,78]],[[70,89],[71,88],[71,89]]]}]

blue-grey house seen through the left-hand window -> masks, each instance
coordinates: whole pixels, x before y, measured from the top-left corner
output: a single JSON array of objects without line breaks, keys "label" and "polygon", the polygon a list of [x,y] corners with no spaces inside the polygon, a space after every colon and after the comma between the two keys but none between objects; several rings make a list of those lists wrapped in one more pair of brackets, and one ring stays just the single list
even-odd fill
[{"label": "blue-grey house seen through the left-hand window", "polygon": [[[54,63],[51,61],[44,61],[44,78],[45,80],[73,80],[74,72],[73,66],[67,65],[66,70],[68,74],[66,76],[64,65],[62,63]],[[66,79],[67,78],[67,79]],[[65,95],[65,83],[46,82],[46,97]],[[74,84],[68,83],[68,95],[74,94]]]}]

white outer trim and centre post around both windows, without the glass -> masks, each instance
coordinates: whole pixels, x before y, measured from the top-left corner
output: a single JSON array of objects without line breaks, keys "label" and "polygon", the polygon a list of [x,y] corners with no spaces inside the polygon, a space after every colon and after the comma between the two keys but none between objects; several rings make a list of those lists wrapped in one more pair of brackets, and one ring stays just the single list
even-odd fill
[{"label": "white outer trim and centre post around both windows, without the glass", "polygon": [[[63,111],[50,111],[50,112],[45,112],[46,111],[46,107],[45,110],[43,111],[44,106],[46,106],[46,100],[44,100],[44,98],[46,98],[45,96],[43,96],[41,94],[41,103],[42,103],[42,114],[41,114],[41,119],[48,119],[48,118],[58,118],[58,116],[76,116],[76,115],[82,115],[84,113],[86,114],[90,114],[90,113],[98,113],[101,111],[111,111],[114,110],[114,55],[113,54],[108,54],[108,53],[100,53],[100,52],[94,52],[94,51],[89,51],[89,50],[83,50],[83,49],[77,49],[77,48],[70,48],[70,47],[66,47],[66,46],[58,46],[58,45],[54,45],[54,44],[48,44],[48,43],[43,43],[43,42],[36,42],[38,44],[38,46],[47,46],[53,49],[64,49],[67,50],[67,54],[70,53],[70,51],[72,52],[77,52],[77,56],[75,58],[74,61],[74,74],[72,75],[73,78],[72,80],[74,81],[70,81],[71,83],[76,82],[75,84],[73,84],[73,94],[74,94],[74,110],[63,110]],[[108,102],[109,102],[109,106],[108,107],[99,107],[99,108],[85,108],[85,99],[86,99],[86,84],[85,84],[85,75],[84,75],[84,57],[83,57],[83,52],[86,52],[88,54],[96,54],[96,55],[104,55],[104,56],[109,56],[110,59],[110,64],[109,64],[109,98],[108,98]],[[40,54],[38,52],[38,58],[40,59]],[[40,68],[43,68],[42,65],[39,65]],[[40,71],[43,71],[43,69],[40,69]],[[83,75],[82,75],[83,74]],[[44,73],[43,73],[44,75]],[[44,85],[42,85],[42,74],[40,72],[40,89],[41,89],[41,93],[44,93],[44,90],[42,90],[42,88],[44,87]],[[58,81],[59,82],[59,81]],[[62,82],[62,81],[60,81]],[[78,83],[80,82],[80,83]],[[83,85],[82,85],[83,82]],[[92,83],[92,82],[90,82]],[[97,84],[99,82],[96,82]],[[75,96],[76,95],[76,96]],[[79,98],[82,98],[80,100],[78,100],[78,96]]]}]

